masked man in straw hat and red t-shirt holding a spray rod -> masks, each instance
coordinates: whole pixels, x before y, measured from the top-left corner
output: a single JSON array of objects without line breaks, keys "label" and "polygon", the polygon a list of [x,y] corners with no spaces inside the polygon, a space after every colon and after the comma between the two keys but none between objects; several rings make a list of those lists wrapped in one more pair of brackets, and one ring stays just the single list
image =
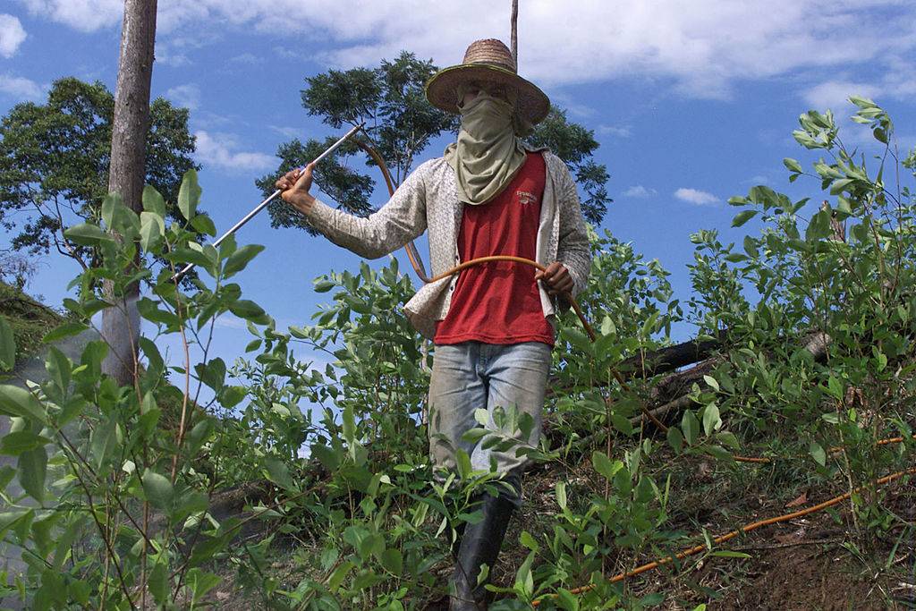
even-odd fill
[{"label": "masked man in straw hat and red t-shirt holding a spray rod", "polygon": [[409,300],[410,322],[435,344],[430,381],[430,449],[434,464],[454,468],[460,449],[474,469],[504,475],[498,496],[482,495],[483,518],[468,524],[458,546],[453,610],[485,609],[478,584],[493,566],[508,520],[521,502],[525,453],[484,449],[463,434],[476,426],[475,409],[518,409],[534,423],[523,445],[540,439],[540,417],[554,338],[554,300],[585,287],[588,238],[576,186],[560,158],[522,144],[548,114],[550,101],[518,76],[506,45],[494,39],[468,47],[463,63],[427,83],[430,103],[460,114],[457,142],[442,158],[420,165],[387,204],[367,218],[319,202],[309,193],[311,166],[277,181],[281,196],[333,243],[375,258],[429,231],[431,268],[440,274],[480,256],[535,259],[546,271],[491,262],[431,282]]}]

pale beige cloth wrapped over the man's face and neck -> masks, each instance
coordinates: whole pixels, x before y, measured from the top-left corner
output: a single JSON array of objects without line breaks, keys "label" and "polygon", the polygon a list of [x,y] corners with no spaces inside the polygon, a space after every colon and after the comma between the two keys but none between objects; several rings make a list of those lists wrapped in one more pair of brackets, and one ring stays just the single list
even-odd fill
[{"label": "pale beige cloth wrapped over the man's face and neck", "polygon": [[[463,91],[459,91],[463,98]],[[461,106],[458,141],[445,149],[455,170],[458,199],[479,205],[492,200],[525,163],[525,147],[516,136],[515,104],[485,91]]]}]

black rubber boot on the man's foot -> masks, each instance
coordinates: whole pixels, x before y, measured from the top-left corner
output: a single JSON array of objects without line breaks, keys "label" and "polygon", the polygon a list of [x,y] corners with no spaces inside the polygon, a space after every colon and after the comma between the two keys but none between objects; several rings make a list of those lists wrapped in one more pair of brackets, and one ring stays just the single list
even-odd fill
[{"label": "black rubber boot on the man's foot", "polygon": [[507,496],[483,496],[478,508],[483,518],[476,524],[464,527],[452,577],[451,611],[485,611],[487,608],[491,593],[484,586],[489,580],[478,585],[477,575],[484,564],[493,574],[496,557],[506,537],[509,518],[515,507]]}]

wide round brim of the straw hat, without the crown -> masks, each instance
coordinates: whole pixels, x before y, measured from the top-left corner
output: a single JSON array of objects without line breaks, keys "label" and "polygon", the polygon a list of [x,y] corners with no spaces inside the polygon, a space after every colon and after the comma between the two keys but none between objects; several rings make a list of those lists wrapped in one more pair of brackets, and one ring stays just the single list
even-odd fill
[{"label": "wide round brim of the straw hat, without the crown", "polygon": [[551,111],[551,101],[533,82],[513,71],[491,64],[460,64],[444,68],[426,83],[426,98],[430,104],[448,113],[458,114],[458,85],[463,82],[496,82],[518,91],[518,112],[536,125]]}]

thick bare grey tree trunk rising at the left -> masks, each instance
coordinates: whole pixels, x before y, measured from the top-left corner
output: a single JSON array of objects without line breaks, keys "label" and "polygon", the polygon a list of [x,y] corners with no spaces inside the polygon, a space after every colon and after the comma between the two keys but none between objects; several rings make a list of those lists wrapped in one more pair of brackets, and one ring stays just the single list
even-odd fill
[{"label": "thick bare grey tree trunk rising at the left", "polygon": [[[125,204],[136,212],[142,210],[143,183],[147,173],[149,87],[156,43],[156,5],[157,0],[125,0],[117,89],[114,93],[108,191],[120,193]],[[131,286],[125,299],[116,303],[117,307],[105,310],[102,317],[102,336],[109,345],[103,371],[114,376],[121,385],[130,384],[136,364],[136,338],[140,330],[136,300],[139,292],[139,285]]]}]

